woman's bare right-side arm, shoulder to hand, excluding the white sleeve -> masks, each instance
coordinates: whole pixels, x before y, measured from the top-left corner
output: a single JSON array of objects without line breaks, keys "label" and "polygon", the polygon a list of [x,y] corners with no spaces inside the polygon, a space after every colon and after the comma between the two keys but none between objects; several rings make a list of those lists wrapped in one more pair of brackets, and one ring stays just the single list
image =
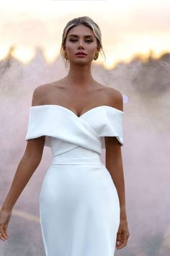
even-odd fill
[{"label": "woman's bare right-side arm, shoulder to hand, excluding the white sleeve", "polygon": [[[115,91],[112,95],[114,107],[123,111],[122,94]],[[105,137],[106,145],[106,167],[117,189],[120,201],[120,227],[117,232],[117,249],[125,247],[130,236],[125,206],[125,182],[122,165],[122,152],[120,142],[116,137]]]}]

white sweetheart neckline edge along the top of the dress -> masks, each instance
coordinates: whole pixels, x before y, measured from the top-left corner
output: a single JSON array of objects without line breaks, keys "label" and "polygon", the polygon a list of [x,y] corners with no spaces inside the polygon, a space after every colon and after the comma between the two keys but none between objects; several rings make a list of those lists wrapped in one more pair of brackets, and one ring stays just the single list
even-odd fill
[{"label": "white sweetheart neckline edge along the top of the dress", "polygon": [[120,112],[120,114],[124,114],[123,111],[121,111],[120,109],[118,108],[114,108],[112,106],[107,106],[107,105],[102,105],[102,106],[96,106],[94,108],[90,108],[89,110],[87,110],[86,112],[84,112],[83,114],[81,114],[81,116],[77,116],[73,111],[71,111],[71,109],[69,108],[66,108],[64,106],[61,106],[61,105],[58,105],[58,104],[44,104],[44,105],[37,105],[37,106],[30,106],[30,108],[43,108],[43,107],[59,107],[59,108],[63,108],[65,109],[66,111],[70,112],[71,114],[73,114],[74,116],[76,116],[78,119],[80,119],[82,116],[85,116],[86,114],[89,114],[91,111],[95,111],[97,110],[98,108],[109,108],[109,109],[112,109],[114,111],[117,111],[117,112]]}]

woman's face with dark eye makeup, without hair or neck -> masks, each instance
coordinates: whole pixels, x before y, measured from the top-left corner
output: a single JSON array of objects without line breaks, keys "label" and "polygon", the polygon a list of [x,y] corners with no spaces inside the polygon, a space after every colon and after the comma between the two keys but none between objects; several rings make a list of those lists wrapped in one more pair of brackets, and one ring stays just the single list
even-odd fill
[{"label": "woman's face with dark eye makeup, without hair or neck", "polygon": [[[85,64],[92,61],[97,52],[97,38],[93,30],[85,25],[72,27],[66,37],[65,50],[70,62]],[[78,52],[84,52],[86,55],[78,56]]]}]

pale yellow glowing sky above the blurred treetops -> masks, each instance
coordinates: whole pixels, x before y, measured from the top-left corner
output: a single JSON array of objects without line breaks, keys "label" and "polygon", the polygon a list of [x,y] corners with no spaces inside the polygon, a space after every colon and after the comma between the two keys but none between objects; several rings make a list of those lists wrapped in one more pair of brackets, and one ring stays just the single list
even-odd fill
[{"label": "pale yellow glowing sky above the blurred treetops", "polygon": [[42,48],[46,61],[60,54],[63,28],[74,17],[89,16],[102,30],[104,56],[98,63],[113,67],[135,55],[158,58],[170,52],[170,1],[152,0],[6,0],[0,1],[0,59],[12,55],[27,64]]}]

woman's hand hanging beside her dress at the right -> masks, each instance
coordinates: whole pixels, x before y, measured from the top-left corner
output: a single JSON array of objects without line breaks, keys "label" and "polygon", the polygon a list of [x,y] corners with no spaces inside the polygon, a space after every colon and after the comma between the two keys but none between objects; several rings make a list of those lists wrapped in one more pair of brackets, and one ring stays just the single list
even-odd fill
[{"label": "woman's hand hanging beside her dress at the right", "polygon": [[117,231],[116,249],[122,249],[122,247],[125,247],[129,236],[127,219],[122,218],[120,219],[120,226]]}]

